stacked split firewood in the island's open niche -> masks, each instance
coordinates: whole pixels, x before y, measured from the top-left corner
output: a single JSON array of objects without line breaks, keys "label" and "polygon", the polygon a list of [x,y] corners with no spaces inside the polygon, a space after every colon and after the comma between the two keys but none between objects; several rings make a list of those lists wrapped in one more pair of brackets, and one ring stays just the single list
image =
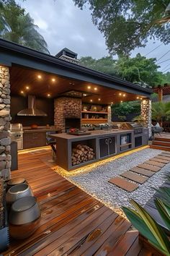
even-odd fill
[{"label": "stacked split firewood in the island's open niche", "polygon": [[75,148],[72,149],[72,165],[75,166],[79,163],[84,163],[86,161],[90,161],[95,158],[95,153],[93,148],[90,148],[87,145],[76,145]]}]

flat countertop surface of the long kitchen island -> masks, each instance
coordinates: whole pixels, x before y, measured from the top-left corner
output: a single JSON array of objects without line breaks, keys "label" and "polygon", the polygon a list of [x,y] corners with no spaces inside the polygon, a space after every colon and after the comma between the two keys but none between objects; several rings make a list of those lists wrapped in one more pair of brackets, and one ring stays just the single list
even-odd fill
[{"label": "flat countertop surface of the long kitchen island", "polygon": [[127,133],[127,132],[133,132],[132,130],[125,130],[125,129],[112,129],[112,130],[96,130],[96,131],[89,131],[91,132],[91,135],[68,135],[67,133],[59,133],[56,135],[50,135],[50,137],[54,138],[61,138],[65,140],[82,140],[82,139],[90,139],[92,137],[101,136],[104,137],[105,135],[115,135],[118,133]]}]

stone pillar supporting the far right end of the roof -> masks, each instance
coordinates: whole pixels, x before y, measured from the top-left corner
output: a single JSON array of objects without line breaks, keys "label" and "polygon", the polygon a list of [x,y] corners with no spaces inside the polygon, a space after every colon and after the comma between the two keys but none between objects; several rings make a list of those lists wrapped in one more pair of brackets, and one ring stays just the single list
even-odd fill
[{"label": "stone pillar supporting the far right end of the roof", "polygon": [[149,137],[151,137],[151,100],[146,98],[140,103],[140,114],[143,116],[144,126],[149,129]]}]

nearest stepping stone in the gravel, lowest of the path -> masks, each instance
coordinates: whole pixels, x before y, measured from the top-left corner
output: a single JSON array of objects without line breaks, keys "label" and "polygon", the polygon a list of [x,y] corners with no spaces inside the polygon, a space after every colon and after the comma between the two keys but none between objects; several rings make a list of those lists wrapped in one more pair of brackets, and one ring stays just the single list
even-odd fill
[{"label": "nearest stepping stone in the gravel, lowest of the path", "polygon": [[128,192],[133,192],[133,190],[138,189],[139,187],[138,184],[128,182],[127,180],[120,177],[109,179],[109,182],[116,185],[117,187],[120,187],[121,189],[125,189]]}]

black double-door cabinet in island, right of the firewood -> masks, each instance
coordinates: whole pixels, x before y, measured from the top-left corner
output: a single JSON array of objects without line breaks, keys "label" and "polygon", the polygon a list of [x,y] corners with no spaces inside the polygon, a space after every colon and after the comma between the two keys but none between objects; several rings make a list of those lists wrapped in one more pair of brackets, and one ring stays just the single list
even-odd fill
[{"label": "black double-door cabinet in island, right of the firewood", "polygon": [[115,154],[115,137],[104,137],[99,139],[99,157]]}]

